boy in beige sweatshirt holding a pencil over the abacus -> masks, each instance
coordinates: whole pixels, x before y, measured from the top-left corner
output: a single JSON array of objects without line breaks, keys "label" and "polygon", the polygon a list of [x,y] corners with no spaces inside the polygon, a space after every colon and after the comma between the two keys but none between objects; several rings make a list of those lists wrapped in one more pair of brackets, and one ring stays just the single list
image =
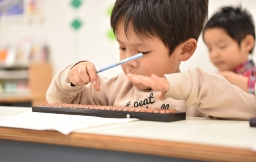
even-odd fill
[{"label": "boy in beige sweatshirt holding a pencil over the abacus", "polygon": [[[218,74],[199,68],[180,72],[195,52],[208,14],[208,0],[117,0],[111,26],[123,73],[99,77],[89,61],[64,67],[48,91],[49,103],[177,109],[187,116],[248,120],[256,116],[256,96]],[[70,82],[76,86],[72,87]]]}]

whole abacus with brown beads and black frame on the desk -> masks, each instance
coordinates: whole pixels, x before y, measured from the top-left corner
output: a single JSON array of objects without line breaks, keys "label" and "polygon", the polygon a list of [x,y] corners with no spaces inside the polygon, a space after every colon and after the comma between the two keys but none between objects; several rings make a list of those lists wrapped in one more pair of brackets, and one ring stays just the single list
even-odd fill
[{"label": "whole abacus with brown beads and black frame on the desk", "polygon": [[89,104],[42,104],[32,107],[32,112],[58,113],[105,118],[137,118],[146,121],[174,122],[186,119],[186,113],[145,107],[101,106]]}]

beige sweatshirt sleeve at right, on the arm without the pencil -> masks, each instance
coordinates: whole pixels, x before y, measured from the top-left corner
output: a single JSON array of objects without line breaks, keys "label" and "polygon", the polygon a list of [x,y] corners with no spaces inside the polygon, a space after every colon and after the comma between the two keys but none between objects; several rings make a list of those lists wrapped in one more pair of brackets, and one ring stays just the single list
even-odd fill
[{"label": "beige sweatshirt sleeve at right, on the arm without the pencil", "polygon": [[191,68],[165,77],[170,84],[166,96],[184,99],[187,106],[198,106],[209,116],[235,120],[256,117],[256,96],[230,84],[221,75]]}]

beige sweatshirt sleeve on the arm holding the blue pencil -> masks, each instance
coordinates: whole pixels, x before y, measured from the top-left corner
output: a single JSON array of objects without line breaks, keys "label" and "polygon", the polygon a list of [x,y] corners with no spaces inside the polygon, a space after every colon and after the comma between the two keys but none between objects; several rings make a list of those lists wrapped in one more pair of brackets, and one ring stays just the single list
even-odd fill
[{"label": "beige sweatshirt sleeve on the arm holding the blue pencil", "polygon": [[109,83],[108,78],[100,77],[100,91],[96,91],[91,83],[86,86],[72,87],[69,83],[68,72],[74,65],[64,67],[55,75],[47,90],[47,101],[49,103],[108,105],[108,96],[105,92],[111,90],[114,83]]}]

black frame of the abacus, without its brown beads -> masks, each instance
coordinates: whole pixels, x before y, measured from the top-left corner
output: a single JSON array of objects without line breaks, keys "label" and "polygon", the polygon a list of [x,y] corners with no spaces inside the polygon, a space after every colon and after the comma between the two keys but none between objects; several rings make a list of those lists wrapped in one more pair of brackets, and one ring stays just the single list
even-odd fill
[{"label": "black frame of the abacus, without its brown beads", "polygon": [[156,122],[175,122],[175,121],[186,119],[186,113],[183,113],[183,112],[146,113],[146,112],[135,112],[135,111],[47,107],[47,106],[32,107],[32,112],[97,116],[97,117],[104,117],[104,118],[127,118],[127,114],[129,114],[130,118],[137,118],[140,120],[156,121]]}]

